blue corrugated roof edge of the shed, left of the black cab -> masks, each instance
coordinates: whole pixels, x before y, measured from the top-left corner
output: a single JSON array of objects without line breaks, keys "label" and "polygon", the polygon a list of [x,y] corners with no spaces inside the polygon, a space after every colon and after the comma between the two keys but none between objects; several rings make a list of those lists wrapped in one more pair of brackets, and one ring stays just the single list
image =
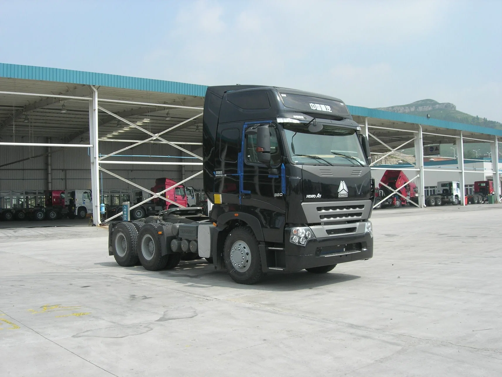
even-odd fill
[{"label": "blue corrugated roof edge of the shed, left of the black cab", "polygon": [[206,95],[207,88],[206,85],[188,84],[185,82],[6,63],[0,63],[0,77],[102,85],[122,89],[157,91],[199,97]]}]

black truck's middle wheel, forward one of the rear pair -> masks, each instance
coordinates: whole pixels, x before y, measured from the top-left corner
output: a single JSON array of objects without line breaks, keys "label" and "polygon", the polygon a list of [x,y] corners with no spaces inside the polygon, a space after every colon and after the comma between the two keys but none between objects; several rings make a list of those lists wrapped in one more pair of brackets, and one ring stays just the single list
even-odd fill
[{"label": "black truck's middle wheel, forward one of the rear pair", "polygon": [[160,240],[157,228],[160,224],[149,223],[141,228],[138,234],[138,257],[141,265],[149,271],[158,271],[167,266],[168,255],[161,255]]}]

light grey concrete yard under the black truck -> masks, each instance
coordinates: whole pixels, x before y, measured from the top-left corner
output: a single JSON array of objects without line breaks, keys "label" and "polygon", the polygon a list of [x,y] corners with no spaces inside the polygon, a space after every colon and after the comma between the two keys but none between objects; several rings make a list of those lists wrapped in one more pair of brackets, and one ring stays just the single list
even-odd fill
[{"label": "light grey concrete yard under the black truck", "polygon": [[0,230],[0,375],[500,376],[501,220],[375,211],[372,259],[256,286],[119,267],[104,229]]}]

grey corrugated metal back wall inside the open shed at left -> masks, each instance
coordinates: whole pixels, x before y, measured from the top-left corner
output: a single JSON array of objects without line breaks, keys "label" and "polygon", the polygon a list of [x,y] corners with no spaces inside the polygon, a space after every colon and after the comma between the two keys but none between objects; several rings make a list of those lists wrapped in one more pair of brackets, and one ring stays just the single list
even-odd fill
[{"label": "grey corrugated metal back wall inside the open shed at left", "polygon": [[[5,141],[12,141],[5,140]],[[45,143],[45,138],[30,140],[17,139],[18,142]],[[58,141],[53,140],[54,143]],[[99,152],[107,154],[123,148],[129,143],[99,142]],[[190,146],[186,146],[189,148]],[[60,149],[53,147],[54,149]],[[47,156],[30,158],[47,152],[46,147],[14,147],[0,146],[0,165],[28,158],[12,165],[0,167],[0,190],[46,190],[47,189]],[[67,148],[52,153],[52,189],[88,189],[90,181],[90,158],[88,148]],[[181,151],[165,144],[143,144],[128,149],[120,154],[145,156],[180,156]],[[194,150],[202,154],[202,147]],[[199,159],[159,158],[159,157],[110,157],[113,160],[128,161],[185,161],[201,162]],[[154,185],[155,178],[168,177],[177,181],[182,179],[180,165],[112,165],[103,164],[105,169],[129,179],[143,187]],[[201,170],[201,166],[185,166],[185,177]],[[100,184],[104,191],[114,189],[132,189],[133,186],[109,174],[102,173]],[[202,174],[186,182],[185,185],[202,189]]]}]

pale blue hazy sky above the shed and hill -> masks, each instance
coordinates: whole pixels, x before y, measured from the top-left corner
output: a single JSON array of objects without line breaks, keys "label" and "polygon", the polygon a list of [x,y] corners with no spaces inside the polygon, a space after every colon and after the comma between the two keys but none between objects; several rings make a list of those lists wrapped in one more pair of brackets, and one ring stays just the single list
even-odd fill
[{"label": "pale blue hazy sky above the shed and hill", "polygon": [[5,1],[0,62],[363,107],[422,99],[502,122],[502,1]]}]

